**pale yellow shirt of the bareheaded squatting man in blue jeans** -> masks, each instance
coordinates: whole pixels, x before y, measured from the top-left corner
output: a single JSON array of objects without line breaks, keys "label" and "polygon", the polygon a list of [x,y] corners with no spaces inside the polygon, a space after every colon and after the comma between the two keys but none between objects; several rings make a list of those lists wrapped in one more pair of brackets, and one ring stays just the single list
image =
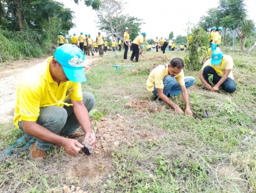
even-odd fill
[{"label": "pale yellow shirt of the bareheaded squatting man in blue jeans", "polygon": [[[152,72],[150,72],[149,78],[147,78],[147,90],[153,91],[154,86],[156,86],[157,89],[164,89],[164,77],[168,75],[168,65],[166,65],[166,68],[165,65],[157,66]],[[183,69],[175,76],[175,79],[179,85],[185,85]]]}]

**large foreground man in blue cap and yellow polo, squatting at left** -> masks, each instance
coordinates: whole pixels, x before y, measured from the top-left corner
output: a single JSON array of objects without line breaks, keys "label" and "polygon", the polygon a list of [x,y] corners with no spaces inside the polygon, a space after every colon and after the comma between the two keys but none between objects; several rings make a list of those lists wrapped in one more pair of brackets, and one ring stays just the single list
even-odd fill
[{"label": "large foreground man in blue cap and yellow polo, squatting at left", "polygon": [[[33,160],[44,160],[53,144],[76,156],[83,145],[69,139],[72,137],[85,135],[94,147],[96,138],[88,112],[95,98],[82,92],[81,82],[86,81],[84,62],[81,49],[65,44],[56,49],[53,57],[28,69],[19,81],[13,122],[36,138],[30,147]],[[80,126],[85,133],[76,132]]]}]

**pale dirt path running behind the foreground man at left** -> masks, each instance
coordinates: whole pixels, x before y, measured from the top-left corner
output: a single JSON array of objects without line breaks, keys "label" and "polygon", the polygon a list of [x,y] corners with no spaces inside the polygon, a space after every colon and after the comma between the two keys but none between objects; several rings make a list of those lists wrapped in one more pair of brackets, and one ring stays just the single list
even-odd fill
[{"label": "pale dirt path running behind the foreground man at left", "polygon": [[[16,61],[0,68],[0,123],[13,121],[16,87],[23,72],[28,68],[43,62],[46,58],[47,57]],[[91,65],[91,63],[98,58],[98,55],[94,57],[86,55],[85,66]]]}]

